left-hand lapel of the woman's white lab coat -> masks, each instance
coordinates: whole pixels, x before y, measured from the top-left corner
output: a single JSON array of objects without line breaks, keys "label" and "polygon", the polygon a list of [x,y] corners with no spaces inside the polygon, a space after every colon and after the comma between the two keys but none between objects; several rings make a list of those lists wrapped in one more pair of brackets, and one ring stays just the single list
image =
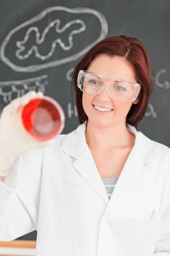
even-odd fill
[{"label": "left-hand lapel of the woman's white lab coat", "polygon": [[75,158],[72,166],[108,204],[108,195],[99,175],[93,156],[86,143],[86,122],[78,126],[76,130],[66,135],[60,150]]}]

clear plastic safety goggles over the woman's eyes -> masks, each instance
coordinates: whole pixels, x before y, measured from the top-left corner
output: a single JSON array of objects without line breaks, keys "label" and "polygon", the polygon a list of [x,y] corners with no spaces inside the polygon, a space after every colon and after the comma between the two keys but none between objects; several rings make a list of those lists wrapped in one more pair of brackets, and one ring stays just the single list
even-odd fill
[{"label": "clear plastic safety goggles over the woman's eyes", "polygon": [[118,102],[135,101],[139,95],[141,85],[130,83],[111,76],[104,76],[80,70],[77,77],[78,88],[87,94],[98,95],[106,89],[110,99]]}]

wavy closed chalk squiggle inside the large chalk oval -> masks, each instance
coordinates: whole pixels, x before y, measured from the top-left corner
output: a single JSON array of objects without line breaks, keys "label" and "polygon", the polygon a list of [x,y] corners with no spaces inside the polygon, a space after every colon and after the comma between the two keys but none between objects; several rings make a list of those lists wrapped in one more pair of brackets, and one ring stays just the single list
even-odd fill
[{"label": "wavy closed chalk squiggle inside the large chalk oval", "polygon": [[[55,25],[56,23],[56,25]],[[16,42],[16,45],[18,46],[18,50],[16,50],[15,52],[15,56],[17,58],[19,58],[20,60],[24,60],[26,58],[29,58],[29,56],[32,54],[32,52],[34,51],[35,52],[35,57],[36,58],[40,58],[42,61],[46,60],[47,58],[50,58],[54,51],[55,51],[55,47],[57,45],[57,43],[59,43],[59,45],[61,46],[61,48],[64,50],[64,51],[68,51],[70,50],[72,47],[73,47],[73,35],[74,34],[78,34],[78,33],[81,33],[82,31],[86,30],[86,25],[85,23],[82,21],[82,20],[72,20],[71,22],[68,22],[66,23],[66,25],[64,25],[64,27],[62,27],[62,29],[59,29],[59,26],[60,26],[60,20],[53,20],[45,29],[44,31],[42,32],[42,36],[40,38],[40,31],[38,29],[38,27],[30,27],[27,31],[26,31],[26,36],[24,37],[24,40],[22,41],[17,41]],[[36,43],[38,45],[41,45],[43,42],[44,42],[44,39],[46,37],[46,34],[49,32],[49,29],[51,27],[54,27],[55,25],[55,30],[57,33],[62,33],[63,31],[65,31],[68,27],[70,27],[71,25],[73,24],[81,24],[82,27],[80,29],[77,29],[77,30],[73,30],[71,31],[71,33],[69,34],[68,36],[68,42],[69,42],[69,45],[68,46],[65,46],[64,43],[62,42],[62,40],[60,38],[56,39],[53,41],[52,43],[52,47],[51,47],[51,51],[49,52],[49,54],[47,55],[41,55],[39,54],[38,52],[38,47],[36,45],[33,45],[31,47],[31,49],[29,49],[29,51],[27,52],[27,54],[25,54],[24,56],[20,55],[21,52],[24,51],[25,49],[25,46],[23,46],[22,44],[25,44],[27,42],[27,40],[29,39],[29,35],[32,31],[35,31],[36,33]]]}]

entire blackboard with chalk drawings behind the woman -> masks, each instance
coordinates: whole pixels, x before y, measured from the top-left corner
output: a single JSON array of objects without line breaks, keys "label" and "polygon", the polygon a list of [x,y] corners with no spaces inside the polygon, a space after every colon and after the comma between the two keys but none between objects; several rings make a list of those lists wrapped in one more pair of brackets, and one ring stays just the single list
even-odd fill
[{"label": "entire blackboard with chalk drawings behind the woman", "polygon": [[[146,47],[154,91],[137,130],[170,147],[169,0],[1,0],[0,112],[12,99],[41,90],[78,126],[71,73],[99,40],[126,35]],[[36,239],[36,232],[23,239]]]}]

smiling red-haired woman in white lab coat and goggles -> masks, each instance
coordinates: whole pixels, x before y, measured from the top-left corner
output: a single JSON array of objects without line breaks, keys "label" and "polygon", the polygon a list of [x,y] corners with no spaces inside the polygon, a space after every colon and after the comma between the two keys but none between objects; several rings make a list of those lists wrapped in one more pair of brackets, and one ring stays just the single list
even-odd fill
[{"label": "smiling red-haired woman in white lab coat and goggles", "polygon": [[[75,67],[73,86],[81,125],[44,149],[24,154],[51,141],[11,128],[36,94],[2,112],[0,240],[37,230],[38,256],[123,256],[112,220],[170,220],[170,149],[135,129],[152,91],[146,49],[136,38],[102,40]],[[107,194],[108,181],[117,184]],[[170,255],[170,224],[152,253]]]}]

